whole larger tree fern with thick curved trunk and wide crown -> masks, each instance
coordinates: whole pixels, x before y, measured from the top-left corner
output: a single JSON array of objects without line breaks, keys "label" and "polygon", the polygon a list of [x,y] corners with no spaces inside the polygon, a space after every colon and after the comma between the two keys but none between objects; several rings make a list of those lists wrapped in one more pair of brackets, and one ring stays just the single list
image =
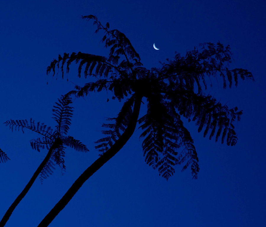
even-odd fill
[{"label": "whole larger tree fern with thick curved trunk and wide crown", "polygon": [[[158,169],[159,174],[166,180],[175,172],[175,165],[182,164],[181,171],[190,166],[192,178],[197,179],[197,152],[181,116],[188,121],[194,121],[198,132],[205,128],[204,137],[210,131],[209,138],[216,134],[217,142],[222,134],[222,143],[226,138],[227,145],[234,146],[237,136],[233,122],[236,118],[240,120],[242,110],[238,111],[237,107],[229,109],[210,95],[206,95],[202,91],[208,87],[205,79],[208,77],[211,81],[212,77],[220,75],[224,89],[228,82],[229,88],[232,87],[233,79],[237,86],[239,76],[242,80],[254,80],[247,70],[227,68],[231,63],[232,53],[229,45],[224,47],[220,42],[216,46],[213,43],[201,43],[201,51],[195,47],[194,50],[187,51],[185,57],[176,53],[174,60],[166,59],[166,63],[161,63],[161,68],[148,70],[142,67],[140,56],[123,33],[109,30],[108,23],[103,26],[93,15],[82,16],[82,19],[94,20],[94,25],[97,25],[95,33],[100,30],[105,33],[101,41],[105,42],[106,48],[110,48],[109,56],[81,52],[73,52],[69,56],[64,53],[63,58],[59,55],[57,60],[51,62],[47,67],[47,74],[53,71],[54,76],[55,67],[59,69],[61,66],[63,78],[65,63],[68,73],[69,66],[74,61],[79,63],[79,77],[85,65],[85,78],[93,76],[97,80],[86,83],[83,87],[76,85],[76,90],[70,91],[68,95],[83,97],[89,92],[110,90],[113,93],[112,99],[121,101],[124,97],[129,98],[124,102],[117,117],[107,119],[113,123],[102,125],[106,128],[102,131],[105,137],[96,141],[100,158],[80,175],[40,222],[39,226],[42,227],[48,226],[82,184],[124,146],[134,133],[137,122],[143,130],[140,137],[143,138],[143,155],[148,165]],[[147,112],[138,119],[142,98],[147,101]]]}]

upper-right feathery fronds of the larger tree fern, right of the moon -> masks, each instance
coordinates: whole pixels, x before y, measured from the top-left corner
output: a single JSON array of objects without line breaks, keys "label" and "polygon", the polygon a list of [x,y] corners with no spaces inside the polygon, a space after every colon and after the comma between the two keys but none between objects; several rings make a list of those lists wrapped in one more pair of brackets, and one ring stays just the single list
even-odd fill
[{"label": "upper-right feathery fronds of the larger tree fern, right of the moon", "polygon": [[232,74],[236,86],[239,76],[242,80],[254,81],[252,73],[247,70],[241,68],[229,70],[227,68],[231,63],[232,55],[229,45],[224,48],[218,42],[217,47],[213,43],[200,43],[200,46],[202,46],[202,52],[195,47],[194,50],[187,51],[186,57],[181,57],[180,53],[176,53],[174,60],[167,59],[168,63],[162,63],[162,68],[156,72],[158,80],[165,79],[180,90],[186,91],[194,91],[194,85],[197,84],[198,94],[202,91],[202,85],[205,90],[207,89],[205,78],[211,79],[217,74],[222,77],[224,89],[227,86],[226,79],[229,82],[229,87],[232,87]]}]

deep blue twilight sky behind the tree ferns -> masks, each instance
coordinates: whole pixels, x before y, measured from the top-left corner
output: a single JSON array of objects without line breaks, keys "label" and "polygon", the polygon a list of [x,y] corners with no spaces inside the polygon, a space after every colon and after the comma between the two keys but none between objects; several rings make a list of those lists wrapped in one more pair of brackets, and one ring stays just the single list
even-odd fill
[{"label": "deep blue twilight sky behind the tree ferns", "polygon": [[[51,223],[58,226],[263,226],[265,219],[265,1],[1,1],[0,8],[0,120],[30,119],[54,126],[52,106],[75,84],[72,65],[69,80],[46,76],[58,54],[84,52],[108,55],[99,42],[102,33],[79,15],[96,15],[110,29],[118,29],[140,54],[144,67],[159,67],[175,55],[185,55],[199,43],[229,44],[235,63],[253,73],[255,82],[223,90],[213,83],[210,94],[244,113],[236,123],[238,143],[203,138],[194,123],[191,132],[200,172],[176,173],[168,182],[145,164],[137,130],[129,142],[96,172]],[[160,48],[155,50],[153,43]],[[48,85],[46,84],[48,81]],[[209,92],[208,91],[208,92]],[[98,158],[94,141],[101,138],[104,117],[115,117],[121,103],[106,102],[112,95],[91,94],[73,103],[69,135],[82,141],[89,153],[67,148],[64,176],[60,168],[37,179],[13,212],[7,227],[37,226],[75,179]],[[144,113],[145,108],[141,110]],[[140,113],[140,115],[141,115]],[[2,217],[46,155],[30,147],[38,135],[14,131],[0,124],[0,148],[11,159],[0,164],[0,216]]]}]

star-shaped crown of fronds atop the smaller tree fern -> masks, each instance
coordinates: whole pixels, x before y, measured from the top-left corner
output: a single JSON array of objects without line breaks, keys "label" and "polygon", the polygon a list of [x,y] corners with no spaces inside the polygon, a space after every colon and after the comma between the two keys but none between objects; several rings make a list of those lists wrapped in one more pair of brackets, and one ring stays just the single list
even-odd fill
[{"label": "star-shaped crown of fronds atop the smaller tree fern", "polygon": [[[46,166],[40,173],[41,181],[53,173],[55,164],[59,165],[62,171],[65,170],[65,146],[74,148],[76,151],[89,151],[84,144],[74,139],[72,136],[64,136],[67,134],[69,126],[71,125],[71,117],[73,115],[73,107],[69,106],[71,103],[71,98],[68,95],[62,95],[61,98],[58,99],[58,102],[56,102],[56,105],[53,106],[52,118],[56,121],[55,130],[53,130],[50,126],[47,127],[47,125],[44,123],[38,122],[36,124],[35,120],[32,120],[32,118],[29,122],[27,120],[8,120],[4,123],[6,126],[9,126],[9,129],[11,129],[12,132],[14,129],[18,131],[22,130],[24,133],[25,129],[28,129],[41,135],[42,137],[30,141],[31,147],[38,152],[40,152],[40,149],[45,148],[49,150],[50,147],[56,142],[56,139],[60,138],[61,144],[59,144],[57,148],[53,150],[49,161],[46,163]],[[0,156],[0,159],[1,157],[2,156]]]}]

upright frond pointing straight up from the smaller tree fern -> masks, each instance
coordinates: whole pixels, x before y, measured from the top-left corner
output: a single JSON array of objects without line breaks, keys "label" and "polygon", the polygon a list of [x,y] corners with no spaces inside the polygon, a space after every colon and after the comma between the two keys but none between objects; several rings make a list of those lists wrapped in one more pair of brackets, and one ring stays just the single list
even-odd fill
[{"label": "upright frond pointing straight up from the smaller tree fern", "polygon": [[55,108],[53,109],[53,119],[57,123],[56,130],[58,136],[66,135],[69,130],[69,125],[71,125],[71,117],[73,115],[73,107],[69,106],[71,103],[72,101],[69,96],[61,95],[61,98],[56,102],[56,106],[53,106]]}]

